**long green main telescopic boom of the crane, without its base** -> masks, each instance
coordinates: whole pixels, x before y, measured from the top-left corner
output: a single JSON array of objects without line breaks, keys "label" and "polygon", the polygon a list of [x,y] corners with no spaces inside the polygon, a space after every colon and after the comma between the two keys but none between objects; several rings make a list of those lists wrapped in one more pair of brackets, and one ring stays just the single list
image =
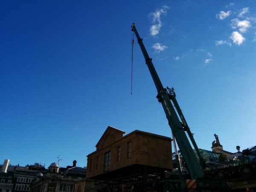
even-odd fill
[{"label": "long green main telescopic boom of the crane, without its base", "polygon": [[172,129],[172,132],[175,136],[175,139],[177,141],[177,144],[180,148],[180,152],[183,155],[183,159],[186,163],[186,166],[189,170],[189,174],[191,175],[192,179],[198,179],[204,177],[204,172],[201,168],[200,163],[198,162],[198,159],[194,153],[194,150],[192,149],[189,140],[186,136],[186,133],[184,131],[184,128],[182,126],[182,123],[180,122],[179,117],[177,116],[177,113],[172,105],[171,102],[171,96],[167,92],[165,88],[163,88],[163,85],[157,75],[157,72],[154,68],[154,65],[152,63],[152,59],[149,58],[148,53],[144,47],[143,39],[140,38],[140,35],[137,32],[137,29],[135,27],[135,24],[133,23],[131,26],[131,30],[134,31],[138,43],[140,45],[140,49],[144,55],[146,64],[148,66],[148,69],[151,73],[152,79],[154,81],[154,84],[157,88],[157,99],[159,102],[161,102],[163,109],[166,113],[166,118],[168,119],[168,123]]}]

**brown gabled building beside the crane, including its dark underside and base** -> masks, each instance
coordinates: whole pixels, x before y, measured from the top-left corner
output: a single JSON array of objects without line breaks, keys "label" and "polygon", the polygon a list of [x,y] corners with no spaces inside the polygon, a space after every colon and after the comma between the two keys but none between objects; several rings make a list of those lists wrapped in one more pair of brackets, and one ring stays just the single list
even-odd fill
[{"label": "brown gabled building beside the crane, including its dark underside and base", "polygon": [[111,189],[116,191],[124,187],[146,191],[172,169],[172,139],[138,130],[123,134],[108,126],[96,151],[87,155],[86,178],[98,180],[96,184],[111,183]]}]

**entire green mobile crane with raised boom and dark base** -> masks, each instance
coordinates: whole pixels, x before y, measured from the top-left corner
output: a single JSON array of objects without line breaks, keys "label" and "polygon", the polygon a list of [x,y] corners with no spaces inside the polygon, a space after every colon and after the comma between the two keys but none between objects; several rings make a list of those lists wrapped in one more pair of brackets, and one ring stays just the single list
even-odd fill
[{"label": "entire green mobile crane with raised boom and dark base", "polygon": [[[193,134],[191,133],[190,128],[187,125],[183,113],[181,112],[181,109],[177,103],[174,89],[163,87],[152,63],[152,58],[148,56],[148,52],[146,51],[143,44],[143,39],[140,38],[140,35],[137,32],[135,23],[132,24],[131,30],[137,37],[138,44],[140,45],[140,49],[148,66],[148,70],[151,73],[151,77],[157,88],[157,100],[163,106],[163,110],[166,113],[166,118],[168,119],[168,124],[172,129],[173,137],[178,144],[181,154],[183,155],[183,159],[186,163],[187,169],[191,177],[190,180],[184,180],[181,176],[180,180],[162,180],[159,182],[159,191],[188,191],[188,189],[195,189],[201,192],[204,192],[206,190],[207,192],[230,191],[231,188],[229,183],[209,180],[209,178],[204,175],[202,169],[202,166],[204,166],[204,158],[201,156],[201,153],[195,143]],[[133,43],[134,40],[132,40],[132,44]],[[178,114],[176,113],[173,106],[175,106]],[[195,148],[198,158],[195,155],[191,144],[189,143],[189,139],[186,136],[185,131],[187,132],[191,143]]]}]

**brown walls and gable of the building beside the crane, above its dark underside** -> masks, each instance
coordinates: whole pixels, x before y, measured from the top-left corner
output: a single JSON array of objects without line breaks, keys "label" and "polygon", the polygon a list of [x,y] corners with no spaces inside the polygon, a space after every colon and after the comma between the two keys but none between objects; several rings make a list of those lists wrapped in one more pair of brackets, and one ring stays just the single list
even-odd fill
[{"label": "brown walls and gable of the building beside the crane, above its dark underside", "polygon": [[124,131],[108,126],[96,151],[87,155],[87,175],[91,178],[131,165],[172,169],[172,139],[135,130]]}]

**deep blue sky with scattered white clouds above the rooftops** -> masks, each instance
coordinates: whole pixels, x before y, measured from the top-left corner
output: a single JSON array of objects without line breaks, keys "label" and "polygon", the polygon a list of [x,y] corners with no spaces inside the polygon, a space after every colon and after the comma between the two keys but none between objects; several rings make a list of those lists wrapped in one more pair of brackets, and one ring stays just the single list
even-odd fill
[{"label": "deep blue sky with scattered white clouds above the rooftops", "polygon": [[[256,2],[0,1],[0,162],[87,165],[108,125],[171,137],[131,24],[199,148],[256,145]],[[171,151],[170,151],[171,152]],[[60,155],[60,156],[59,156]]]}]

